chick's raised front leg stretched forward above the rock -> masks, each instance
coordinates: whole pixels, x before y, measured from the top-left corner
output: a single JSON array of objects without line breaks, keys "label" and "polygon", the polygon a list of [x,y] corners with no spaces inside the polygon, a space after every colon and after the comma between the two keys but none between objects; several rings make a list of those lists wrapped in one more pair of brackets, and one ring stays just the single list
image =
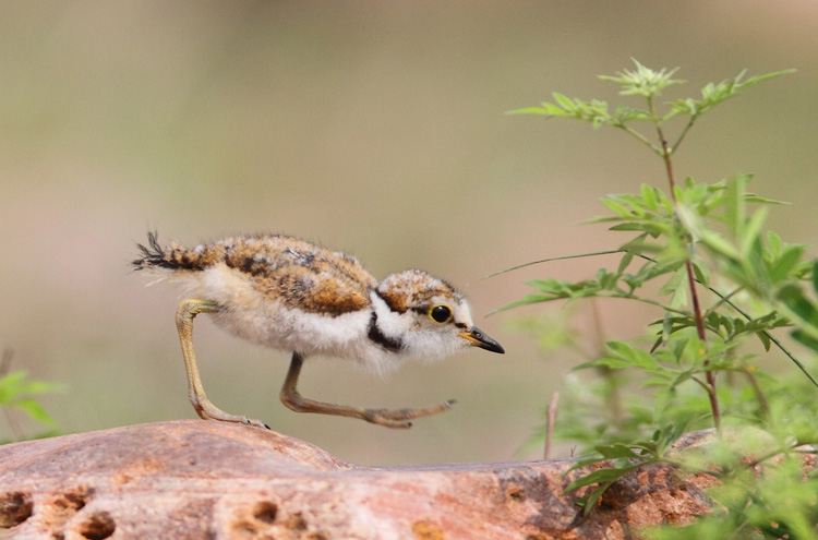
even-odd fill
[{"label": "chick's raised front leg stretched forward above the rock", "polygon": [[287,379],[284,382],[280,395],[281,401],[296,412],[318,412],[322,415],[360,418],[361,420],[376,423],[378,425],[385,425],[387,428],[406,429],[412,427],[412,422],[409,420],[444,412],[455,404],[455,400],[450,399],[445,404],[424,407],[422,409],[364,409],[361,407],[350,407],[348,405],[334,405],[324,401],[315,401],[302,397],[301,394],[298,393],[298,389],[296,389],[302,364],[303,357],[298,352],[293,352],[292,360],[290,361],[290,370],[287,372]]}]

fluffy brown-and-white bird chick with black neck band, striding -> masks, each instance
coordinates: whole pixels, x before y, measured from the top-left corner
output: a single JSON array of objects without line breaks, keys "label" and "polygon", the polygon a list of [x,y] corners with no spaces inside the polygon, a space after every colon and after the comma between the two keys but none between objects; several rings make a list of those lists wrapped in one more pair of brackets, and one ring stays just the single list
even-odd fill
[{"label": "fluffy brown-and-white bird chick with black neck band, striding", "polygon": [[[292,352],[281,401],[299,412],[352,417],[389,428],[443,412],[454,400],[417,409],[365,409],[305,398],[297,383],[303,360],[323,355],[384,373],[408,358],[441,359],[479,347],[505,352],[471,319],[452,285],[409,269],[377,281],[352,256],[288,236],[242,236],[193,249],[163,247],[148,232],[133,266],[160,273],[184,290],[177,328],[189,396],[203,419],[267,428],[230,415],[205,395],[193,351],[193,319],[209,313],[219,327],[249,341]],[[268,429],[268,428],[267,428]]]}]

